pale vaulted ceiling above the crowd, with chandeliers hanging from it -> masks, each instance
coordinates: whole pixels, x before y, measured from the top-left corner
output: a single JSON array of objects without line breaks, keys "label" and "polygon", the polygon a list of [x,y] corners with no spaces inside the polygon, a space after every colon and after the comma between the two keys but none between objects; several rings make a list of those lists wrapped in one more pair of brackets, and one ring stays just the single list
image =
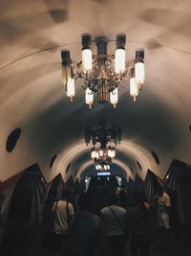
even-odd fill
[{"label": "pale vaulted ceiling above the crowd, with chandeliers hanging from it", "polygon": [[[84,128],[96,128],[100,118],[108,128],[122,128],[116,162],[127,173],[132,167],[144,177],[149,168],[162,177],[173,158],[191,164],[190,10],[190,0],[0,1],[0,179],[34,162],[47,181],[59,172],[66,180],[76,169],[91,168]],[[69,103],[60,80],[60,50],[69,48],[80,60],[85,32],[110,40],[126,33],[127,60],[136,48],[145,48],[146,81],[136,104],[127,84],[117,109],[96,104],[87,109],[80,84]],[[114,53],[115,42],[109,50]],[[7,137],[18,127],[21,137],[9,153]],[[159,165],[151,151],[158,153]]]}]

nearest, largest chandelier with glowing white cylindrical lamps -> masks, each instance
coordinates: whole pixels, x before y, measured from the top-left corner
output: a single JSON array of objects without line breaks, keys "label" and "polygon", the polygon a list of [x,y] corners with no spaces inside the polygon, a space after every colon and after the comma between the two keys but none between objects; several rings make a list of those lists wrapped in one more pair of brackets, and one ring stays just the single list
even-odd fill
[{"label": "nearest, largest chandelier with glowing white cylindrical lamps", "polygon": [[66,86],[66,95],[73,101],[75,95],[74,80],[83,80],[85,103],[91,108],[94,93],[101,105],[109,102],[116,107],[118,103],[118,85],[130,80],[130,95],[138,96],[138,90],[144,83],[144,49],[136,50],[136,58],[125,61],[126,35],[117,34],[115,55],[107,54],[106,37],[96,39],[97,55],[92,54],[92,35],[82,35],[82,60],[73,61],[70,51],[61,50],[62,82]]}]

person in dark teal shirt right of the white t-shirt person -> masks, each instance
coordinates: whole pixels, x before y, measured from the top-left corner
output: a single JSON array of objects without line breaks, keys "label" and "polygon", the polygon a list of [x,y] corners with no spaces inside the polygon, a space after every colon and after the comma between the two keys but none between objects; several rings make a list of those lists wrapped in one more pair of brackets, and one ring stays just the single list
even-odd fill
[{"label": "person in dark teal shirt right of the white t-shirt person", "polygon": [[104,232],[101,221],[93,212],[93,195],[84,193],[79,198],[79,213],[69,228],[64,255],[94,256],[104,253]]}]

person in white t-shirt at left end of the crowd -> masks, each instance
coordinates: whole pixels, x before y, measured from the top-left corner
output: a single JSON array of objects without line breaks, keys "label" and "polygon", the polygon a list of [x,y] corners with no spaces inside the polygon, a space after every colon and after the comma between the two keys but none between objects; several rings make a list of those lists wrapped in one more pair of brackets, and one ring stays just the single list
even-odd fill
[{"label": "person in white t-shirt at left end of the crowd", "polygon": [[53,232],[55,250],[61,251],[66,242],[69,223],[74,218],[74,206],[71,200],[70,191],[64,191],[62,199],[53,203],[52,211],[54,213]]}]

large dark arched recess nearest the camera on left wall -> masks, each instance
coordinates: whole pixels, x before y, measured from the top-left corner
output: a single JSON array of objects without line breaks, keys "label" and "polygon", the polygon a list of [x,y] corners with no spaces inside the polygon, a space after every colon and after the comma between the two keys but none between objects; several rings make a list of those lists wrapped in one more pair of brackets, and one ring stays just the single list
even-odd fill
[{"label": "large dark arched recess nearest the camera on left wall", "polygon": [[29,226],[40,222],[40,210],[46,198],[46,182],[37,164],[24,170],[12,197],[8,221],[22,220]]}]

